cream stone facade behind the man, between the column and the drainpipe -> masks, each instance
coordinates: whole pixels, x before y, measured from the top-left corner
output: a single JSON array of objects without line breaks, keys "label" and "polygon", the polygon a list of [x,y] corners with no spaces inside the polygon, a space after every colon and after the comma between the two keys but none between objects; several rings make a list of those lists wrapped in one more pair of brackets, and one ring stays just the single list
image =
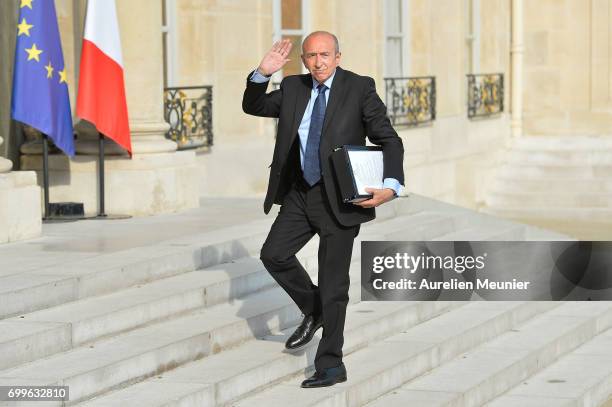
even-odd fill
[{"label": "cream stone facade behind the man, between the column and the drainpipe", "polygon": [[[480,181],[489,176],[509,137],[508,115],[485,121],[467,119],[466,3],[411,0],[404,4],[409,6],[405,75],[435,76],[438,89],[437,121],[416,129],[397,128],[406,146],[407,191],[477,207]],[[272,43],[273,1],[241,2],[237,7],[233,2],[177,0],[176,5],[176,84],[212,84],[215,89],[215,147],[197,158],[204,169],[201,191],[211,196],[262,194],[274,146],[274,123],[246,116],[240,99],[247,73]],[[308,7],[306,31],[334,32],[340,40],[341,65],[374,77],[384,99],[384,2],[312,0]],[[508,2],[484,2],[480,72],[509,76],[509,13]],[[240,30],[227,30],[228,26]],[[506,106],[508,101],[506,92]],[[229,160],[231,166],[226,165]],[[231,182],[219,179],[215,168],[223,168]],[[437,181],[430,182],[428,174],[436,174]]]}]

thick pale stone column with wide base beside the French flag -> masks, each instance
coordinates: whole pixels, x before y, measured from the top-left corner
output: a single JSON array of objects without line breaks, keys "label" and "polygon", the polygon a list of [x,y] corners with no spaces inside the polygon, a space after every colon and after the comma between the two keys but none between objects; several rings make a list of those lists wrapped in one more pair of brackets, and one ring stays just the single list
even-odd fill
[{"label": "thick pale stone column with wide base beside the French flag", "polygon": [[[147,0],[116,1],[133,157],[113,142],[106,143],[106,212],[152,215],[197,207],[199,191],[195,152],[177,151],[165,138],[163,118],[163,51],[161,7]],[[77,10],[75,13],[81,13]],[[72,22],[82,38],[82,23]],[[77,50],[77,52],[79,52]],[[80,55],[75,61],[80,60]],[[75,69],[75,80],[78,69]],[[97,132],[78,122],[77,155],[50,157],[50,196],[53,202],[83,202],[85,213],[98,210]],[[24,156],[24,168],[41,169],[40,156]]]}]

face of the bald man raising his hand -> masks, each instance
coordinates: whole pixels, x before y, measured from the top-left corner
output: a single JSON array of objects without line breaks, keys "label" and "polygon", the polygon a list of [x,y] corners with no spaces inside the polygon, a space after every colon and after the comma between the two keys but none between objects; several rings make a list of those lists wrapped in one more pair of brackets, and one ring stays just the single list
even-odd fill
[{"label": "face of the bald man raising his hand", "polygon": [[302,48],[302,62],[317,82],[325,82],[340,63],[334,39],[325,34],[308,38]]}]

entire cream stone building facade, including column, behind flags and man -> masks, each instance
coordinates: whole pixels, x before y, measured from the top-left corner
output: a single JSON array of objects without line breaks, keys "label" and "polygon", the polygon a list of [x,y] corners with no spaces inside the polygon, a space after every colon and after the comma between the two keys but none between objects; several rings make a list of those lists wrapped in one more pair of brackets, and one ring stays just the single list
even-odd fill
[{"label": "entire cream stone building facade, including column, behind flags and man", "polygon": [[[341,65],[375,78],[384,100],[385,7],[393,2],[303,1],[305,5],[300,10],[305,15],[303,32],[334,32],[340,39]],[[74,106],[86,2],[55,0],[55,3]],[[298,3],[285,0],[117,2],[135,159],[114,156],[107,166],[111,180],[108,196],[118,199],[117,206],[111,204],[110,211],[153,214],[197,205],[199,195],[263,194],[274,145],[274,121],[245,115],[240,99],[247,73],[279,35],[275,31],[279,7],[296,7]],[[483,202],[483,183],[491,177],[511,138],[510,106],[522,106],[518,109],[522,120],[513,122],[514,127],[520,127],[515,134],[521,130],[526,135],[609,133],[612,124],[612,71],[608,63],[612,41],[607,18],[612,5],[609,0],[547,0],[529,2],[524,9],[515,7],[523,3],[520,0],[401,0],[399,3],[403,10],[402,35],[407,44],[403,76],[435,76],[437,81],[437,119],[416,128],[397,127],[406,146],[407,192],[479,207]],[[166,9],[162,10],[164,4]],[[3,29],[8,33],[12,30],[11,14],[15,18],[17,10],[4,3],[2,7],[2,11],[9,12],[0,13],[6,23]],[[521,10],[520,16],[513,15],[516,10]],[[164,18],[171,36],[165,51]],[[524,34],[524,47],[517,51],[524,55],[520,72],[512,69],[513,21],[518,22]],[[8,37],[2,40],[5,57],[12,54],[12,50],[6,50],[11,41]],[[171,78],[166,80],[165,58],[172,65]],[[467,118],[468,73],[504,74],[502,114],[481,120]],[[521,87],[511,95],[512,78],[519,74],[523,77],[517,82]],[[10,92],[6,85],[10,80],[6,73],[3,75],[0,114],[5,117]],[[215,144],[212,149],[177,153],[173,143],[164,139],[167,129],[162,104],[164,83],[213,85]],[[517,100],[524,103],[516,104]],[[10,145],[17,135],[5,123],[0,136],[7,138],[10,133],[7,143]],[[96,210],[95,188],[91,187],[96,182],[95,148],[95,140],[83,131],[79,135],[79,157],[74,162],[52,160],[55,172],[51,178],[61,180],[58,183],[61,185],[52,186],[56,199],[86,202],[89,213]],[[5,147],[3,155],[7,151]],[[112,151],[109,148],[109,153]],[[146,161],[146,170],[140,159]],[[153,162],[159,168],[154,169]],[[40,159],[36,154],[25,155],[19,164],[20,169],[38,170]],[[126,166],[133,168],[128,171]],[[141,176],[145,173],[148,175]],[[149,177],[157,180],[158,189],[163,193],[154,193],[140,182]],[[118,180],[126,183],[127,189],[140,191],[135,194],[141,197],[141,205],[131,204],[130,197],[121,202],[124,198],[118,192],[122,191]],[[156,198],[173,194],[176,199],[163,203]],[[147,209],[142,210],[143,207]]]}]

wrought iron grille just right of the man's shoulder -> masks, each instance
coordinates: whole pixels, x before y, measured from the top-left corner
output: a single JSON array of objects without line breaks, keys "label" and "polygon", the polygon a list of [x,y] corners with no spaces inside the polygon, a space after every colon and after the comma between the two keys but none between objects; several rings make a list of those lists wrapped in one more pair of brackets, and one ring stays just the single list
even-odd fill
[{"label": "wrought iron grille just right of the man's shoulder", "polygon": [[384,78],[387,115],[395,126],[416,126],[436,119],[436,78]]}]

